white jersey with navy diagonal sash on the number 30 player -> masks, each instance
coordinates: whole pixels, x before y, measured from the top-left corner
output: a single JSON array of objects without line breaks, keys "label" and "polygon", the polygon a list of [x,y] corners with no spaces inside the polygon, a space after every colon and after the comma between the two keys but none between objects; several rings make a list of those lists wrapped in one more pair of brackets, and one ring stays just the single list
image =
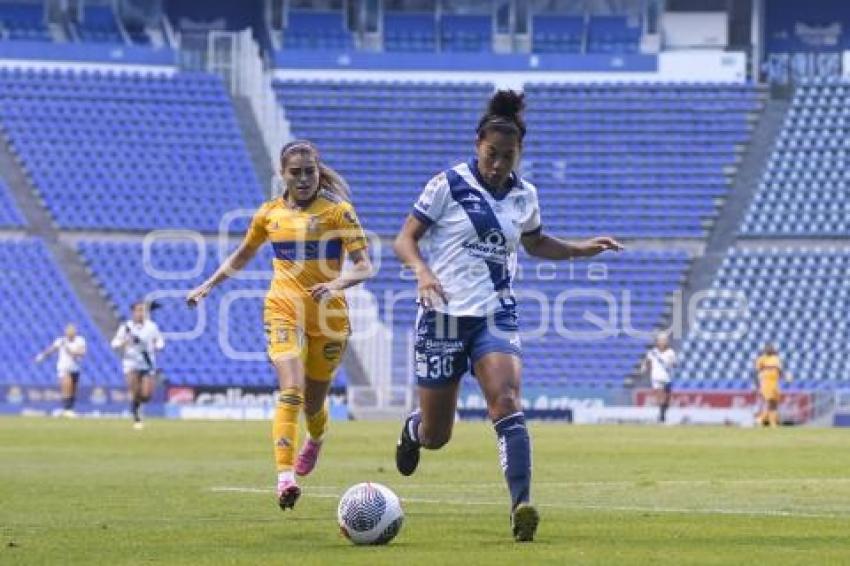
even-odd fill
[{"label": "white jersey with navy diagonal sash on the number 30 player", "polygon": [[422,191],[413,215],[430,226],[424,251],[449,299],[436,310],[486,316],[515,305],[520,238],[542,226],[537,189],[515,173],[511,179],[510,190],[496,198],[472,159],[443,171]]}]

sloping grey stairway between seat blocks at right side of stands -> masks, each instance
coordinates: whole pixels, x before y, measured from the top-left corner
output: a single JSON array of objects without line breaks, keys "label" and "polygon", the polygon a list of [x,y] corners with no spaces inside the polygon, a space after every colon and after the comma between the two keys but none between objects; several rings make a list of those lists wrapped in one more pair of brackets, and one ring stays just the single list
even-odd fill
[{"label": "sloping grey stairway between seat blocks at right side of stands", "polygon": [[[727,250],[735,245],[738,228],[756,194],[762,171],[782,130],[788,107],[785,100],[766,100],[732,186],[712,226],[705,251],[694,258],[682,290],[683,305],[688,305],[695,293],[711,288]],[[683,314],[686,317],[683,320],[685,328],[689,328],[691,321],[687,320],[687,309]]]}]

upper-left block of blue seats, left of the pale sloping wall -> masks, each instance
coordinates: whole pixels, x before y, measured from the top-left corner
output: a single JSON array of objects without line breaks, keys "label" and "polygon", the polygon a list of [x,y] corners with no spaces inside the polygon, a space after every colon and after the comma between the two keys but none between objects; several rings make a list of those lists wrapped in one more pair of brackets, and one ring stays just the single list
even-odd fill
[{"label": "upper-left block of blue seats, left of the pale sloping wall", "polygon": [[214,232],[264,198],[214,75],[0,69],[0,130],[62,228]]}]

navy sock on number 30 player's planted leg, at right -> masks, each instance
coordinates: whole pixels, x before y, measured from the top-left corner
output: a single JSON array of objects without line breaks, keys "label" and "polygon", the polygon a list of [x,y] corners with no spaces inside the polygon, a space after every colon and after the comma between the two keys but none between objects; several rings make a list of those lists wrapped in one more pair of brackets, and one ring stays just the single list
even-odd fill
[{"label": "navy sock on number 30 player's planted leg, at right", "polygon": [[493,423],[499,445],[499,463],[511,492],[511,509],[531,498],[531,439],[525,415],[514,413]]}]

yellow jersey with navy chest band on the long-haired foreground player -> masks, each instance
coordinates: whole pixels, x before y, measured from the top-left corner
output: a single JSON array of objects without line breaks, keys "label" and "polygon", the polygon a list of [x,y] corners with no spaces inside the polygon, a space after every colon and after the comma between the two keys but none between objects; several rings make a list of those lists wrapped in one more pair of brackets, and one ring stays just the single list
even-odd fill
[{"label": "yellow jersey with navy chest band on the long-haired foreground player", "polygon": [[267,240],[274,248],[269,300],[308,296],[313,285],[339,276],[343,253],[366,247],[354,207],[326,190],[305,210],[290,208],[283,198],[263,204],[251,220],[245,243],[259,247]]}]

